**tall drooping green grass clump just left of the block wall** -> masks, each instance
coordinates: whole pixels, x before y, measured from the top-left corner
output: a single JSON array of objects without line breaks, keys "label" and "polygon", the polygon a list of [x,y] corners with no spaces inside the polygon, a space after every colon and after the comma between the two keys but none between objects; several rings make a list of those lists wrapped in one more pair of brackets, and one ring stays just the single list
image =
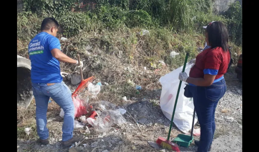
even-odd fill
[{"label": "tall drooping green grass clump just left of the block wall", "polygon": [[190,29],[197,12],[208,12],[209,3],[204,0],[169,0],[168,21],[177,29]]}]

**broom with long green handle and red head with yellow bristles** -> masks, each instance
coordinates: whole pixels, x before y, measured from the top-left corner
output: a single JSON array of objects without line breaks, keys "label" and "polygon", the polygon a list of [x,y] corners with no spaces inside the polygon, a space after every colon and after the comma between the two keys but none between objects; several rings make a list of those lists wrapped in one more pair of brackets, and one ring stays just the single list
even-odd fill
[{"label": "broom with long green handle and red head with yellow bristles", "polygon": [[[184,72],[184,70],[185,70],[188,56],[189,56],[189,53],[186,53],[182,72]],[[171,141],[169,141],[169,138],[170,138],[170,134],[171,134],[171,130],[172,130],[172,124],[173,124],[173,120],[174,120],[174,115],[175,115],[175,111],[176,111],[176,104],[177,104],[177,100],[178,100],[178,97],[179,97],[181,85],[182,85],[182,81],[180,81],[180,83],[179,83],[178,91],[177,91],[177,94],[176,94],[176,101],[175,101],[175,105],[174,105],[174,110],[173,110],[173,114],[172,114],[172,119],[171,119],[171,124],[170,124],[170,128],[169,128],[167,140],[165,138],[159,136],[157,141],[156,141],[156,143],[158,145],[162,146],[163,148],[166,148],[168,150],[174,150],[176,152],[180,152],[180,149],[179,149],[179,147],[176,143],[172,143]]]}]

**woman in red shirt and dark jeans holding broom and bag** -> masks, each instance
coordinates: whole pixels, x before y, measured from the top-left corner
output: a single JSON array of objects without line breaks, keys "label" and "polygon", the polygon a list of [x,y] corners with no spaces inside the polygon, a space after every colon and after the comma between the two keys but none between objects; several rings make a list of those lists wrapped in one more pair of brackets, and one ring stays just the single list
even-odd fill
[{"label": "woman in red shirt and dark jeans holding broom and bag", "polygon": [[205,31],[210,48],[197,55],[190,77],[185,72],[179,80],[189,84],[193,104],[200,123],[200,141],[197,152],[208,152],[215,133],[215,110],[218,101],[226,92],[224,74],[230,61],[228,50],[229,35],[222,22],[210,23]]}]

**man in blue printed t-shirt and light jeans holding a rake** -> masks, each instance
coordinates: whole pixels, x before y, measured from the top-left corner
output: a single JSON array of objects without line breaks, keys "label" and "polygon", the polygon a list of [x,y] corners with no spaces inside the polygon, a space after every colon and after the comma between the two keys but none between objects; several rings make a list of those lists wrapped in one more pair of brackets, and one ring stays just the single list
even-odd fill
[{"label": "man in blue printed t-shirt and light jeans holding a rake", "polygon": [[[62,126],[62,144],[70,146],[82,141],[82,136],[73,137],[75,108],[71,91],[62,81],[59,61],[82,67],[83,63],[61,52],[59,39],[56,38],[59,23],[53,18],[45,18],[41,23],[41,33],[29,43],[31,61],[32,90],[36,102],[36,124],[39,142],[49,143],[47,129],[48,101],[51,97],[65,112]],[[79,66],[80,65],[80,66]]]}]

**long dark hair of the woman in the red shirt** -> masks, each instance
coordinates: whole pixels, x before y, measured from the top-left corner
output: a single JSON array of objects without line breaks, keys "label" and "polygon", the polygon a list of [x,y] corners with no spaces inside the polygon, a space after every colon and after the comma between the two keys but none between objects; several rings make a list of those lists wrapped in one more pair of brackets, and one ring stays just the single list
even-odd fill
[{"label": "long dark hair of the woman in the red shirt", "polygon": [[229,42],[229,33],[227,27],[219,21],[213,22],[207,26],[208,40],[211,48],[222,47],[223,51],[227,51]]}]

